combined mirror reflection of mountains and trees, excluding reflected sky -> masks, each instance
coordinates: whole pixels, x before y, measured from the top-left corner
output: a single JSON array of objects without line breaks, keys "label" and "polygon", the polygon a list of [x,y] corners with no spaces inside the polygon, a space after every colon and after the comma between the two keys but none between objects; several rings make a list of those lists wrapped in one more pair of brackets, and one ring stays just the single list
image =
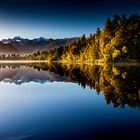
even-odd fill
[{"label": "combined mirror reflection of mountains and trees, excluding reflected sky", "polygon": [[107,104],[124,108],[125,104],[140,109],[140,67],[62,65],[59,63],[1,64],[0,81],[74,82],[83,88],[89,86],[97,94],[104,94]]}]

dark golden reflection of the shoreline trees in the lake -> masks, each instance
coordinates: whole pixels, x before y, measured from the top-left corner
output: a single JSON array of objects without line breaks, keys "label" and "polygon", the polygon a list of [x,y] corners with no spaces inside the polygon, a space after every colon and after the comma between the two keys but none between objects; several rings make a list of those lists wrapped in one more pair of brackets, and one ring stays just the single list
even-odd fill
[{"label": "dark golden reflection of the shoreline trees in the lake", "polygon": [[104,94],[107,104],[124,108],[125,104],[140,109],[140,67],[60,63],[2,64],[0,68],[31,67],[69,77],[83,88],[89,86],[97,94]]}]

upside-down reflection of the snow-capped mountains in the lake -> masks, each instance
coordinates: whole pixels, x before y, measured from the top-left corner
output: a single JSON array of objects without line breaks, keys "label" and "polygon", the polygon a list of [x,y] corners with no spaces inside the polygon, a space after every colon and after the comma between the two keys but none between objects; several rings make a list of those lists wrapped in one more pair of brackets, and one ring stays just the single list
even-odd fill
[{"label": "upside-down reflection of the snow-capped mountains in the lake", "polygon": [[70,78],[66,76],[60,76],[49,70],[40,70],[41,67],[37,66],[38,64],[2,64],[0,65],[0,81],[18,85],[31,81],[39,83],[46,81],[71,82]]}]

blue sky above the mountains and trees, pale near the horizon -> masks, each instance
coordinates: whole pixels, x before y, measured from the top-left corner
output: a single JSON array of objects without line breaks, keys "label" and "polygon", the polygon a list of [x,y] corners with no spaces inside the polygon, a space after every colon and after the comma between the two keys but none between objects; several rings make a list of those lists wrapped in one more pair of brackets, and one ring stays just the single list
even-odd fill
[{"label": "blue sky above the mountains and trees, pale near the horizon", "polygon": [[89,35],[108,17],[140,13],[139,7],[137,0],[1,0],[0,39]]}]

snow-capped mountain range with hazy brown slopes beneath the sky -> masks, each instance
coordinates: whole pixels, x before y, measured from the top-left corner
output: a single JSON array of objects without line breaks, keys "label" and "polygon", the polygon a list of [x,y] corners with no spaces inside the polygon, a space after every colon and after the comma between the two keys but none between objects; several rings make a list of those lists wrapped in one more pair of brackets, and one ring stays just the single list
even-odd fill
[{"label": "snow-capped mountain range with hazy brown slopes beneath the sky", "polygon": [[46,39],[43,37],[36,39],[24,39],[19,36],[0,41],[0,55],[2,54],[20,54],[28,55],[37,51],[51,50],[58,47],[65,47],[79,38],[64,38],[64,39]]}]

